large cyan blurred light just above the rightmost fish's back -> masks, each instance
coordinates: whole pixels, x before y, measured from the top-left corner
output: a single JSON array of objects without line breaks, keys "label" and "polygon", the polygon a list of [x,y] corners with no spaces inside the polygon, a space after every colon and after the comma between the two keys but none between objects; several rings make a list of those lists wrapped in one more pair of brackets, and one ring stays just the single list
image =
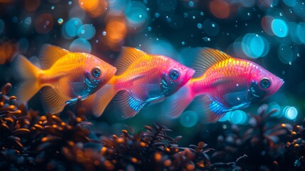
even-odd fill
[{"label": "large cyan blurred light just above the rightmost fish's back", "polygon": [[263,36],[247,33],[242,38],[242,51],[250,58],[266,56],[269,52],[269,43]]}]

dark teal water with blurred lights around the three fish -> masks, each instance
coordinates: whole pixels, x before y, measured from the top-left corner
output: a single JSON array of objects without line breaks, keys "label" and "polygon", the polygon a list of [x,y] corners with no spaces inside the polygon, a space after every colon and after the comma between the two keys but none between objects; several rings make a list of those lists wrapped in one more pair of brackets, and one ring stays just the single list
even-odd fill
[{"label": "dark teal water with blurred lights around the three fish", "polygon": [[[227,119],[206,125],[198,113],[183,113],[169,120],[159,113],[162,104],[141,110],[134,118],[117,120],[109,105],[100,118],[90,116],[92,130],[118,134],[127,124],[135,130],[158,122],[182,135],[182,145],[205,141],[215,147],[228,138],[232,124],[241,129],[262,103],[278,113],[276,123],[301,123],[305,111],[305,4],[299,0],[200,1],[200,0],[95,0],[95,1],[10,1],[0,0],[0,85],[16,83],[10,68],[14,55],[21,53],[38,63],[43,43],[70,51],[92,53],[112,63],[122,46],[159,53],[177,61],[189,47],[218,48],[235,58],[255,61],[285,83],[277,93]],[[43,113],[39,93],[28,108]],[[73,109],[68,106],[63,111]],[[90,115],[90,106],[87,113]],[[230,138],[229,138],[230,139]]]}]

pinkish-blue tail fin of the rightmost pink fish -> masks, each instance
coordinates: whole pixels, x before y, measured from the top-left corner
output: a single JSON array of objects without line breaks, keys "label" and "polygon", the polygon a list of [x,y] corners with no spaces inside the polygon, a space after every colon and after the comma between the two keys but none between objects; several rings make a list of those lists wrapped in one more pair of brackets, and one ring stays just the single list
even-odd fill
[{"label": "pinkish-blue tail fin of the rightmost pink fish", "polygon": [[164,100],[162,113],[169,118],[178,118],[188,105],[193,101],[194,95],[191,92],[191,86],[186,83],[175,94]]}]

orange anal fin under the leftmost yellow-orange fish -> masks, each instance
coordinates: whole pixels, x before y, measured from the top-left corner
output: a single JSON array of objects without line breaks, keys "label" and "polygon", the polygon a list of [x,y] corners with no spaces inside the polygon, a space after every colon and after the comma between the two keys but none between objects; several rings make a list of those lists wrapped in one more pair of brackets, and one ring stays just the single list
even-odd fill
[{"label": "orange anal fin under the leftmost yellow-orange fish", "polygon": [[63,98],[55,90],[46,86],[41,89],[41,101],[43,104],[43,108],[47,113],[55,114],[60,113],[65,108],[67,101],[70,99]]}]

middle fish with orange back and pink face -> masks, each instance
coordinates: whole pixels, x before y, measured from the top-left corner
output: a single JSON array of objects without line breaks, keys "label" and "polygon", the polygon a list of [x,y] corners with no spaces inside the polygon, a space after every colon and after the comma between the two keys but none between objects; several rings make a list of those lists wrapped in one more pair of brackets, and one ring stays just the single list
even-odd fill
[{"label": "middle fish with orange back and pink face", "polygon": [[95,95],[93,113],[97,116],[102,115],[114,98],[114,112],[120,118],[130,118],[144,105],[159,103],[176,93],[195,73],[171,58],[130,47],[123,48],[114,66],[116,76]]}]

